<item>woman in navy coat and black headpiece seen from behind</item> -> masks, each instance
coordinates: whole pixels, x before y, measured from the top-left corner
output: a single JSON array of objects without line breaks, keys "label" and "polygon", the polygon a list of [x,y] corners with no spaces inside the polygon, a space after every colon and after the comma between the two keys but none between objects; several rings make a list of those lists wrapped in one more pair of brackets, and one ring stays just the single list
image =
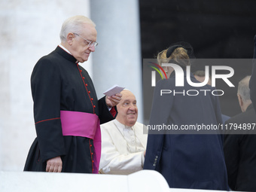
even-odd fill
[{"label": "woman in navy coat and black headpiece seen from behind", "polygon": [[[208,130],[188,129],[222,124],[218,96],[212,95],[214,88],[187,83],[185,70],[190,66],[190,58],[194,58],[193,48],[186,43],[173,44],[157,56],[160,64],[179,66],[184,76],[178,79],[172,67],[165,67],[169,78],[155,87],[149,125],[169,129],[149,130],[144,169],[160,172],[169,187],[228,190],[222,136],[216,130],[209,134]],[[188,78],[199,83],[191,73]],[[184,81],[184,86],[176,86],[176,81]],[[171,93],[161,94],[162,90]]]}]

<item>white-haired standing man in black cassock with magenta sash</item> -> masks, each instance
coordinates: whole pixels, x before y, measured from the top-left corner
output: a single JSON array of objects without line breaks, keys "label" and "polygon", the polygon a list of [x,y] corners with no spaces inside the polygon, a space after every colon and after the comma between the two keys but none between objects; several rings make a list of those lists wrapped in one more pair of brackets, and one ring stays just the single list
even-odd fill
[{"label": "white-haired standing man in black cassock with magenta sash", "polygon": [[37,138],[24,171],[98,173],[99,123],[114,119],[121,94],[98,100],[78,64],[95,51],[96,36],[92,20],[71,17],[62,24],[61,44],[36,63],[31,88]]}]

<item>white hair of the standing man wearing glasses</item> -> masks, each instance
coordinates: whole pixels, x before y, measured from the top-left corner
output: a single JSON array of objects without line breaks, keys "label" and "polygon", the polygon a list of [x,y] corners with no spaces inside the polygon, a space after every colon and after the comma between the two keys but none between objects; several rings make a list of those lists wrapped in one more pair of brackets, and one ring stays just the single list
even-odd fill
[{"label": "white hair of the standing man wearing glasses", "polygon": [[74,32],[81,34],[84,24],[90,24],[92,26],[96,26],[92,20],[83,15],[76,15],[73,17],[69,17],[69,19],[65,20],[62,24],[62,28],[59,33],[59,38],[62,42],[66,42],[67,35],[69,32]]}]

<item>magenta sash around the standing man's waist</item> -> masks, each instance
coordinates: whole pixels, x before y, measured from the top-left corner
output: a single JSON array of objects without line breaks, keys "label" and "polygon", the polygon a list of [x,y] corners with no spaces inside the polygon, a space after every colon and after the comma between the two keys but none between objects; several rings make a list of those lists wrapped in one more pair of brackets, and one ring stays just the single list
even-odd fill
[{"label": "magenta sash around the standing man's waist", "polygon": [[81,136],[93,139],[93,173],[99,172],[99,160],[102,149],[102,138],[99,117],[78,111],[60,111],[63,136]]}]

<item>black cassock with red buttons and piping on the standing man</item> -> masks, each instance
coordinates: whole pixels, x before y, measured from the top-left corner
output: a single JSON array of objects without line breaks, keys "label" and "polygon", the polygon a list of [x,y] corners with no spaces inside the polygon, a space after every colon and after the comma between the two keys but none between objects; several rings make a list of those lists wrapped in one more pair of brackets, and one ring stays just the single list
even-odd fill
[{"label": "black cassock with red buttons and piping on the standing man", "polygon": [[93,140],[62,136],[60,111],[97,114],[100,123],[113,120],[105,97],[97,99],[93,82],[74,56],[56,47],[36,63],[31,76],[37,138],[24,171],[45,172],[47,160],[60,156],[62,172],[93,172]]}]

